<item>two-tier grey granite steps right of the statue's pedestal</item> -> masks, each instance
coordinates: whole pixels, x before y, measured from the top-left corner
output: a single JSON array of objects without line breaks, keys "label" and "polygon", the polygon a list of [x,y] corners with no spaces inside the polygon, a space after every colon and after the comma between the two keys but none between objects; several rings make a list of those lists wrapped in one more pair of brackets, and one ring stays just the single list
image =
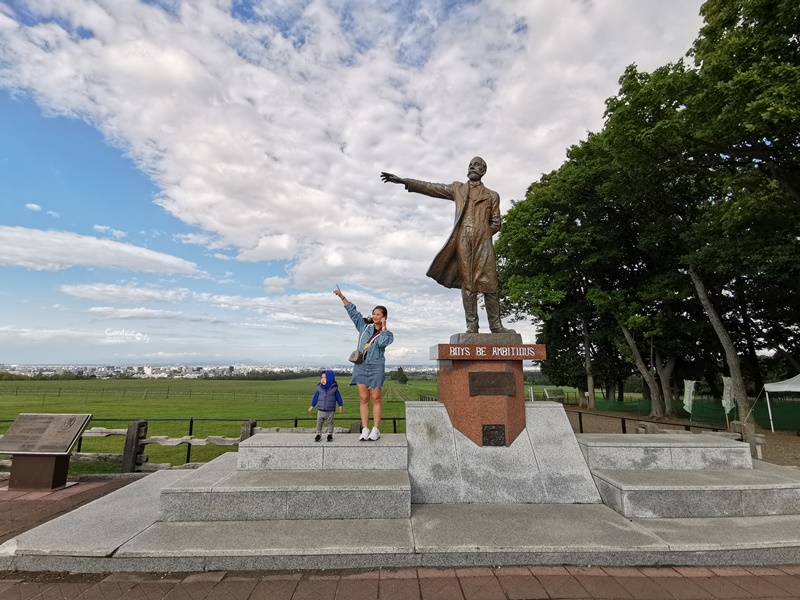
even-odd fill
[{"label": "two-tier grey granite steps right of the statue's pedestal", "polygon": [[628,518],[800,513],[800,470],[708,434],[576,436],[603,503]]}]

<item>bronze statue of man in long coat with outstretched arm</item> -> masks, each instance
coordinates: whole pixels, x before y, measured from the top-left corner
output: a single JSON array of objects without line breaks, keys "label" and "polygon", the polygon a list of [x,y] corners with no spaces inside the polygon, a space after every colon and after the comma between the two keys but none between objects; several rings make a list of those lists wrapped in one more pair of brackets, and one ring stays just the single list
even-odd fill
[{"label": "bronze statue of man in long coat with outstretched arm", "polygon": [[486,161],[476,156],[469,162],[469,181],[451,184],[403,179],[381,173],[384,183],[402,183],[409,192],[453,200],[456,218],[453,231],[428,269],[448,288],[461,288],[467,318],[467,333],[478,333],[478,294],[483,294],[492,333],[515,333],[500,322],[500,290],[492,236],[500,231],[500,196],[481,183]]}]

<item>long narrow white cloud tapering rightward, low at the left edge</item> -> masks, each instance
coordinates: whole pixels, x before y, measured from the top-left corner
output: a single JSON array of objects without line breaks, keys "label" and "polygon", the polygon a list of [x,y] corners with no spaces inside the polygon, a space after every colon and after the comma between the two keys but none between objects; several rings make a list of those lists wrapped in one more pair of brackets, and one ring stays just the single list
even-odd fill
[{"label": "long narrow white cloud tapering rightward, low at the left edge", "polygon": [[194,263],[131,244],[66,231],[0,226],[0,265],[34,271],[106,267],[199,277]]}]

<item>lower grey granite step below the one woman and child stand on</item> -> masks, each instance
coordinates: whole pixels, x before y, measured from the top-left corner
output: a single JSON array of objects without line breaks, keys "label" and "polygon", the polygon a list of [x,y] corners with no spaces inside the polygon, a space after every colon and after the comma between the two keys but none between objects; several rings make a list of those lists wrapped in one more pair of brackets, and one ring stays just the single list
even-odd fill
[{"label": "lower grey granite step below the one woman and child stand on", "polygon": [[159,521],[401,519],[406,470],[237,471],[228,453],[161,490]]}]

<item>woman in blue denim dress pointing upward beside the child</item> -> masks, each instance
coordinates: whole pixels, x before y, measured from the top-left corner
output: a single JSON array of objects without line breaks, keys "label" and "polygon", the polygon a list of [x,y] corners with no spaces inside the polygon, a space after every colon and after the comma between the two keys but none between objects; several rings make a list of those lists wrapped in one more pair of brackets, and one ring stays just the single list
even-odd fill
[{"label": "woman in blue denim dress pointing upward beside the child", "polygon": [[[386,327],[387,311],[385,306],[376,306],[372,317],[365,319],[356,305],[344,297],[339,286],[333,292],[342,299],[350,320],[358,330],[358,349],[365,352],[364,362],[353,365],[353,377],[350,385],[358,386],[358,398],[361,400],[361,441],[376,441],[381,437],[378,427],[383,414],[382,394],[383,382],[386,379],[386,346],[394,341],[394,335]],[[372,400],[372,422],[369,428],[369,402]]]}]

